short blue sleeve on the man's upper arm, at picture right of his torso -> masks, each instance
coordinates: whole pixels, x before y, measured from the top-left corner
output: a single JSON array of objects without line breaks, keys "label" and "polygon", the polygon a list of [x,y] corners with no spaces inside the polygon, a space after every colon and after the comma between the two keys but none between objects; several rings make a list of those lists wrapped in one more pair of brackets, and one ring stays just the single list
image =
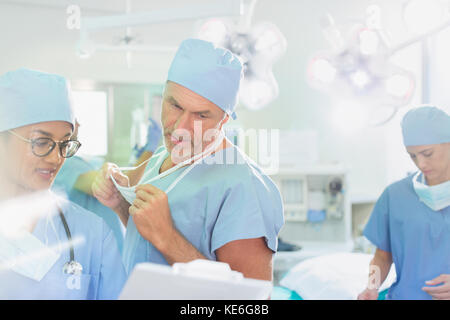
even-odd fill
[{"label": "short blue sleeve on the man's upper arm, at picture right of his torso", "polygon": [[283,219],[283,212],[278,194],[274,197],[271,192],[262,182],[255,184],[251,180],[226,192],[211,236],[211,255],[215,256],[215,251],[228,242],[261,237],[276,252],[282,226],[278,220]]}]

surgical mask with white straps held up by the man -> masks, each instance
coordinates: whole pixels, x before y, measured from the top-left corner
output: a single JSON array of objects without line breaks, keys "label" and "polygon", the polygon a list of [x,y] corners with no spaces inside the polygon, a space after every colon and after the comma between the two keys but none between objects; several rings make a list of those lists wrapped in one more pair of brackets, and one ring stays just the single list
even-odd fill
[{"label": "surgical mask with white straps held up by the man", "polygon": [[[188,165],[190,163],[192,163],[180,176],[178,176],[177,179],[175,179],[170,185],[169,187],[164,190],[166,193],[169,193],[176,185],[178,182],[181,181],[181,179],[184,178],[185,175],[187,175],[197,164],[199,164],[202,160],[202,158],[204,158],[205,156],[208,156],[210,153],[214,152],[219,145],[223,142],[223,139],[225,138],[225,134],[223,132],[223,130],[218,129],[220,127],[220,125],[222,124],[223,120],[226,118],[226,114],[224,114],[224,117],[222,118],[222,120],[219,121],[219,123],[216,125],[215,130],[218,131],[218,134],[216,135],[216,138],[214,139],[214,141],[212,143],[210,143],[203,152],[201,152],[200,154],[196,154],[193,157],[178,163],[176,166],[170,168],[169,170],[157,175],[156,177],[153,178],[148,178],[148,176],[146,174],[144,174],[141,178],[141,180],[139,181],[138,184],[151,184],[152,182],[162,179],[166,176],[168,176],[169,174],[173,173],[174,171],[180,169],[181,167],[184,167],[185,165]],[[162,161],[164,161],[164,159],[166,159],[168,153],[163,152],[161,153],[158,157],[158,161],[155,163],[155,166],[158,167],[161,165]],[[121,170],[124,169],[130,169],[130,168],[119,168]],[[147,170],[146,173],[152,172],[152,170]],[[125,200],[128,201],[128,203],[132,204],[133,201],[136,199],[136,193],[135,193],[135,189],[136,186],[133,187],[123,187],[120,186],[114,179],[114,177],[111,175],[111,180],[113,181],[114,185],[116,186],[117,190],[119,190],[119,192],[122,194],[122,196],[125,198]]]}]

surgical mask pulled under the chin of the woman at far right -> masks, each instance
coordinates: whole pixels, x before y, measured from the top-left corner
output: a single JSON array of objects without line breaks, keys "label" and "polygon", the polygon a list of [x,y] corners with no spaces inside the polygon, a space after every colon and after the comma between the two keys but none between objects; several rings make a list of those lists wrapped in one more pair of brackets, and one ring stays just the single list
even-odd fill
[{"label": "surgical mask pulled under the chin of the woman at far right", "polygon": [[413,177],[414,191],[420,201],[434,211],[439,211],[450,206],[450,181],[435,186],[427,186],[424,183],[423,175],[422,182],[418,181],[420,174],[421,172],[419,171]]}]

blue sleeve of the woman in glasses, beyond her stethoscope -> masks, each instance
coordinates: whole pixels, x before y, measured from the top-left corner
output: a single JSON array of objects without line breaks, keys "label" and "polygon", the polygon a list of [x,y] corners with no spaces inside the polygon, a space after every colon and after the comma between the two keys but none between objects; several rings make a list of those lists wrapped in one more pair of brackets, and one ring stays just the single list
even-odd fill
[{"label": "blue sleeve of the woman in glasses, beyond her stethoscope", "polygon": [[103,223],[103,245],[97,299],[113,300],[119,297],[127,279],[116,239],[108,225]]}]

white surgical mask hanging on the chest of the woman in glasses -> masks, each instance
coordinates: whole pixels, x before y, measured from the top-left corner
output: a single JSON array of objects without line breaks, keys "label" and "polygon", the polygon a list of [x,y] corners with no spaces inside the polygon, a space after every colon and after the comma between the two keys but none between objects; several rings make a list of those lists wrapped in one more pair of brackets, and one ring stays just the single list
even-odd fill
[{"label": "white surgical mask hanging on the chest of the woman in glasses", "polygon": [[41,281],[59,257],[60,253],[28,231],[8,236],[0,234],[0,270],[12,270]]}]

